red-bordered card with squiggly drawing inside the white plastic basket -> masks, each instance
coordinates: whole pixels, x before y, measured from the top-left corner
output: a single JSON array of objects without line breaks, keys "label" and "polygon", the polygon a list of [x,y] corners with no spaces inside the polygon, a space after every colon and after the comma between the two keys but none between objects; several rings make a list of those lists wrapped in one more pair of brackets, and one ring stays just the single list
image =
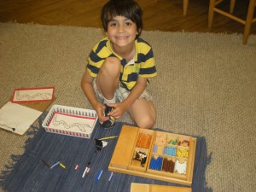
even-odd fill
[{"label": "red-bordered card with squiggly drawing inside the white plastic basket", "polygon": [[57,130],[87,133],[92,131],[95,124],[96,118],[55,112],[49,122],[49,127]]}]

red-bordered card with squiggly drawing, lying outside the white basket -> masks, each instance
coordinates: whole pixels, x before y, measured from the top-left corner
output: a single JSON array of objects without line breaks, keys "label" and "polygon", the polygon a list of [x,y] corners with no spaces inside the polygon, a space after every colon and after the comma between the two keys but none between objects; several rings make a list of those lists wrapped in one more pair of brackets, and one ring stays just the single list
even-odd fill
[{"label": "red-bordered card with squiggly drawing, lying outside the white basket", "polygon": [[12,102],[44,102],[54,99],[54,87],[15,89]]}]

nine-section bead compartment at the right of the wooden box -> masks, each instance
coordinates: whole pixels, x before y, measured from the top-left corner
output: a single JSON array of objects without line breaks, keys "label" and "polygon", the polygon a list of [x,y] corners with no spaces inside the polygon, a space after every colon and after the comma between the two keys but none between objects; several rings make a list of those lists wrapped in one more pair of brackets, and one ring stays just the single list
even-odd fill
[{"label": "nine-section bead compartment at the right of the wooden box", "polygon": [[[186,176],[190,141],[191,137],[155,131],[148,172],[172,177]],[[157,161],[158,159],[161,160]]]}]

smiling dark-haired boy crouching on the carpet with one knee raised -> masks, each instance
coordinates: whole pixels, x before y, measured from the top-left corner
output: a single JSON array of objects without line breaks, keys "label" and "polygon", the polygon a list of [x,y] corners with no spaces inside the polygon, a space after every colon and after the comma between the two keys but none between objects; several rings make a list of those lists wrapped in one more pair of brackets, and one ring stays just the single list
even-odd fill
[{"label": "smiling dark-haired boy crouching on the carpet with one knee raised", "polygon": [[133,0],[110,0],[102,8],[107,37],[90,52],[81,85],[105,128],[112,127],[125,111],[141,128],[153,127],[156,120],[154,104],[145,90],[156,68],[152,48],[139,38],[142,16]]}]

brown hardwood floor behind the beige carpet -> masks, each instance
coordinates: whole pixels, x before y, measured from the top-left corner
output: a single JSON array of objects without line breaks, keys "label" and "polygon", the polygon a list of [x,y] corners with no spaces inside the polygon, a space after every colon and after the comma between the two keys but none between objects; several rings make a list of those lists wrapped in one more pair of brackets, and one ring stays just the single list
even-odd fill
[{"label": "brown hardwood floor behind the beige carpet", "polygon": [[[108,0],[1,0],[0,22],[102,27],[100,13]],[[144,30],[242,33],[244,26],[215,14],[207,27],[209,0],[190,0],[183,16],[183,0],[137,0],[143,8]],[[229,0],[219,7],[229,9]],[[248,0],[236,0],[235,14],[246,18]],[[251,32],[256,34],[256,23]]]}]

